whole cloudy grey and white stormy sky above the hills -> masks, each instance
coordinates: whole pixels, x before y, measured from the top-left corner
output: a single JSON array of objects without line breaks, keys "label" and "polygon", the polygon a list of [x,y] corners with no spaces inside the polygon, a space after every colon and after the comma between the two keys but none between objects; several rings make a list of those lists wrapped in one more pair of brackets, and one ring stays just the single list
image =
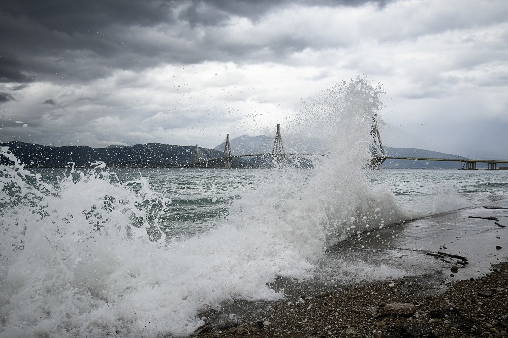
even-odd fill
[{"label": "whole cloudy grey and white stormy sky above the hills", "polygon": [[214,147],[358,75],[389,125],[508,159],[505,0],[0,3],[3,142]]}]

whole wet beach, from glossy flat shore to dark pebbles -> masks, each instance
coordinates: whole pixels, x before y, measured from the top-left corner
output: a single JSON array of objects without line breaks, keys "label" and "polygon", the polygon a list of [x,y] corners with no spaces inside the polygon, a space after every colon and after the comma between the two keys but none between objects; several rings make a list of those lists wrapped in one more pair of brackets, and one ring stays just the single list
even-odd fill
[{"label": "whole wet beach, from glossy flat shore to dark pebbles", "polygon": [[[376,236],[379,234],[379,236]],[[285,298],[235,300],[192,336],[502,337],[508,332],[508,201],[435,215],[340,242],[340,257],[414,274],[359,284],[279,279]],[[344,263],[343,260],[340,261]]]}]

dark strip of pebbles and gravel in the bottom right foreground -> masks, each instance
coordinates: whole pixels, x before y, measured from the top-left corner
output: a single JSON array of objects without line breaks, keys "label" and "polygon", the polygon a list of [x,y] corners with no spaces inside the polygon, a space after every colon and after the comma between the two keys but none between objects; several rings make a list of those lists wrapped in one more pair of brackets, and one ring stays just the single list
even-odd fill
[{"label": "dark strip of pebbles and gravel in the bottom right foreground", "polygon": [[[508,262],[426,294],[421,276],[288,295],[242,318],[205,324],[190,337],[502,337],[508,329]],[[268,302],[265,302],[268,305]]]}]

